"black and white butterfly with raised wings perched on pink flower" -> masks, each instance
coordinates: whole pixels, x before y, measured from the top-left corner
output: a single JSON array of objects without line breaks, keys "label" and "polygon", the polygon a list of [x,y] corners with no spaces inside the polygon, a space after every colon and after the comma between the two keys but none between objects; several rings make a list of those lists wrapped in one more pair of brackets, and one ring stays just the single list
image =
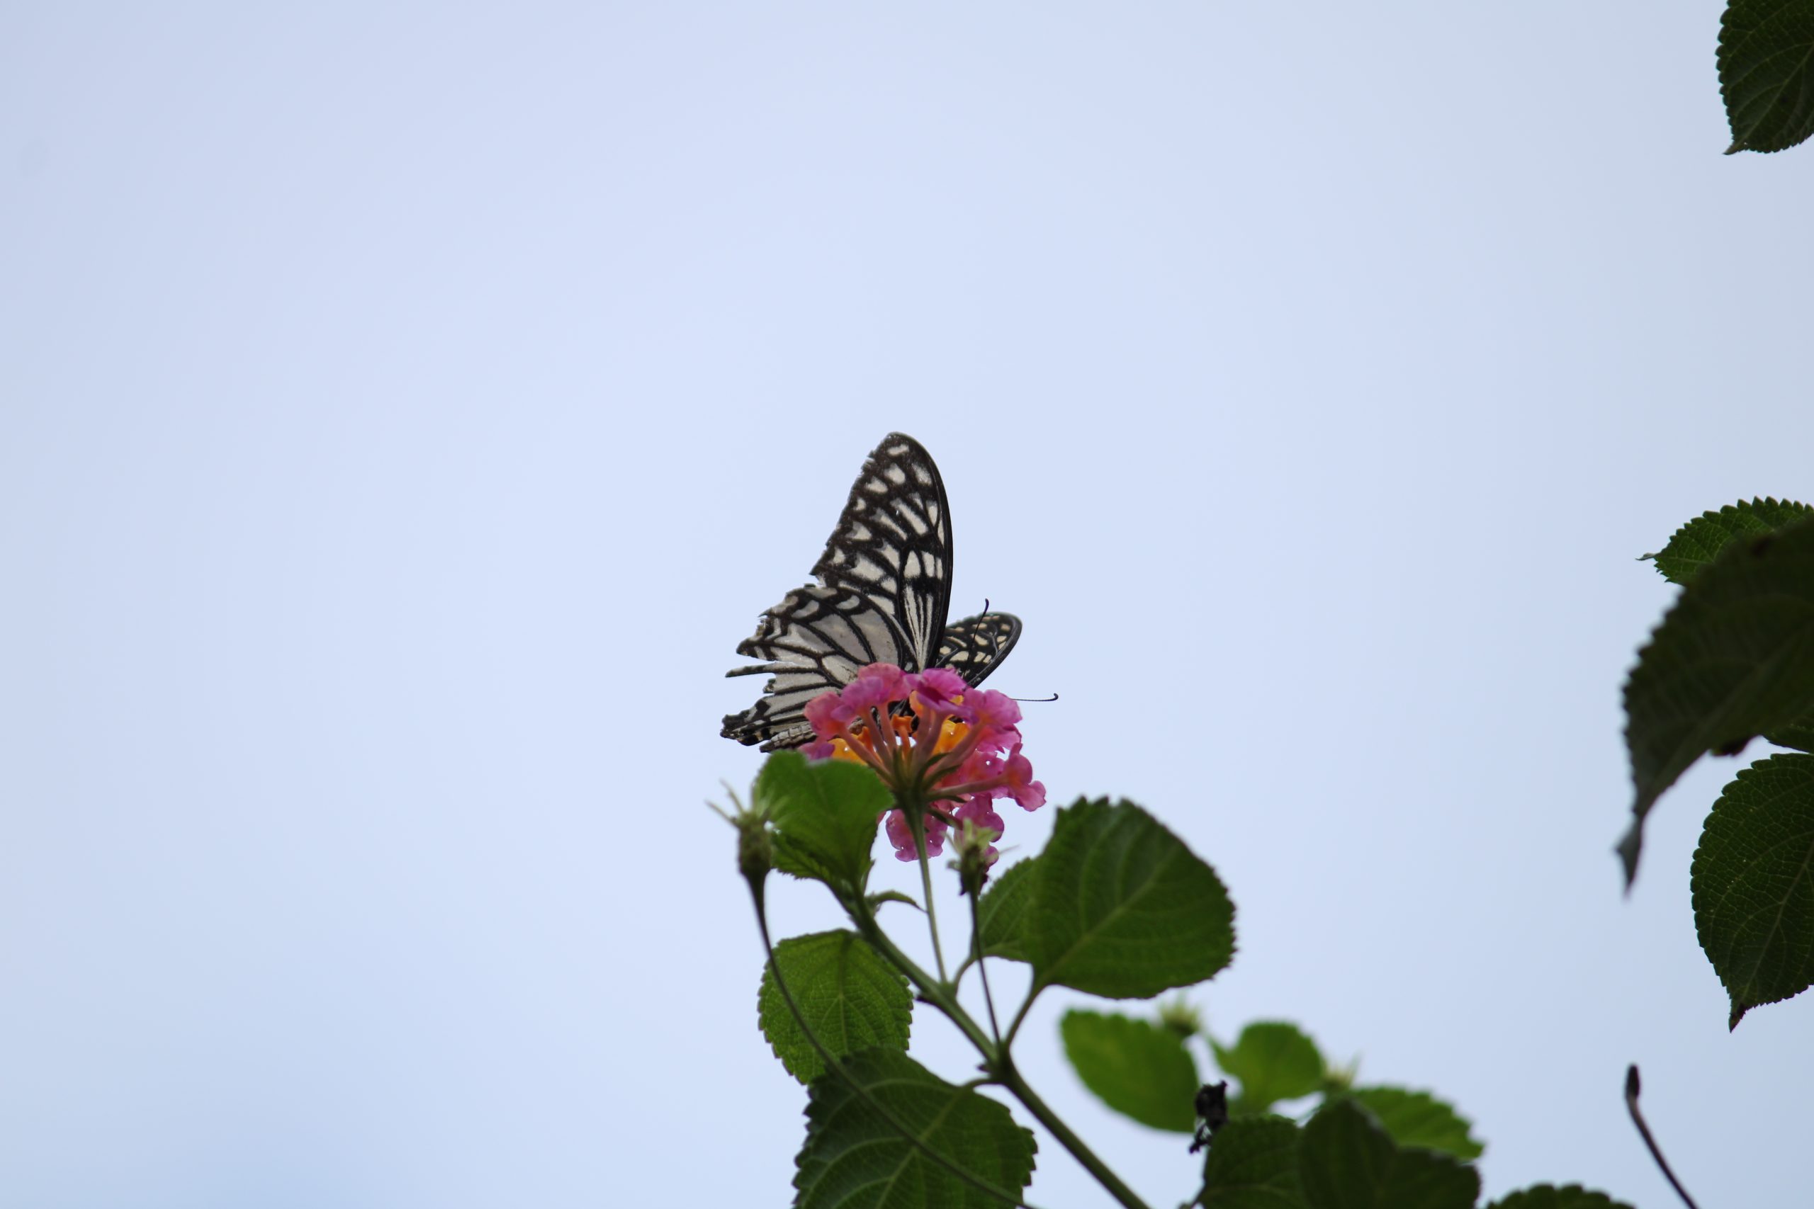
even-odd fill
[{"label": "black and white butterfly with raised wings perched on pink flower", "polygon": [[1019,640],[1019,618],[978,613],[945,625],[951,605],[951,509],[932,455],[889,433],[863,462],[816,584],[787,593],[736,653],[766,660],[727,676],[771,674],[762,698],[726,714],[724,736],[762,750],[811,741],[805,703],[856,680],[869,663],[909,672],[949,667],[978,685]]}]

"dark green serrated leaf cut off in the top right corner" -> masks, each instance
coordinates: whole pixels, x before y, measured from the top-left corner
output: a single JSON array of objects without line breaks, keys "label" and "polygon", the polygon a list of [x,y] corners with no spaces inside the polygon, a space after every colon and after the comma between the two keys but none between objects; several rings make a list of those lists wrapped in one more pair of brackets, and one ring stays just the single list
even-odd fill
[{"label": "dark green serrated leaf cut off in the top right corner", "polygon": [[1814,0],[1732,0],[1720,18],[1720,96],[1736,150],[1814,134]]}]

